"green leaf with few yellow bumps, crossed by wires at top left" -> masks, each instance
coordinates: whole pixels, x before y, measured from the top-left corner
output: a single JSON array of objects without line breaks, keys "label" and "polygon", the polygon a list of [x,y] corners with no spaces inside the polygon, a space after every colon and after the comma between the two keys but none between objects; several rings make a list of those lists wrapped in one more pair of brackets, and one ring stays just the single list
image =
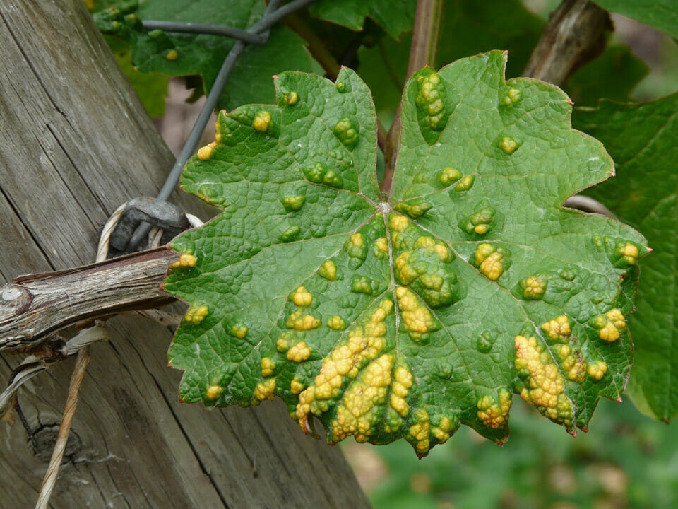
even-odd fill
[{"label": "green leaf with few yellow bumps, crossed by wires at top left", "polygon": [[[148,0],[138,8],[119,2],[96,13],[103,33],[115,35],[132,46],[136,69],[169,76],[199,75],[209,93],[222,63],[235,44],[229,37],[147,32],[141,19],[213,23],[246,29],[263,16],[263,0]],[[249,46],[234,67],[218,107],[232,109],[244,103],[266,102],[274,97],[270,76],[287,69],[311,71],[305,42],[284,25],[270,31],[265,45]]]}]

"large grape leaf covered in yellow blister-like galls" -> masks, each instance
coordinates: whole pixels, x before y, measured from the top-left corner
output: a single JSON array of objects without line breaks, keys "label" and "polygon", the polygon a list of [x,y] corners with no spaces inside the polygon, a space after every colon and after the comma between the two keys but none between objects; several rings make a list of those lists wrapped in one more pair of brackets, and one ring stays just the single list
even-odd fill
[{"label": "large grape leaf covered in yellow blister-like galls", "polygon": [[172,241],[165,281],[191,303],[169,350],[185,401],[278,395],[331,443],[423,456],[460,423],[504,442],[514,392],[572,433],[619,397],[645,240],[561,208],[612,160],[571,130],[564,93],[505,64],[412,76],[388,201],[350,69],[284,73],[277,105],[220,112],[182,187],[223,213]]}]

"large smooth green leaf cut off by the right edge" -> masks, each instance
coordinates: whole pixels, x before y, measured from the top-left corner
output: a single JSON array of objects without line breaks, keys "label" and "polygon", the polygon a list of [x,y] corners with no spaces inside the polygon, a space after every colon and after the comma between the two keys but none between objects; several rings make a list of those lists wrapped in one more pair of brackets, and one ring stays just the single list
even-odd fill
[{"label": "large smooth green leaf cut off by the right edge", "polygon": [[669,421],[678,413],[676,335],[678,288],[678,94],[639,105],[602,101],[576,110],[575,125],[599,138],[617,164],[617,177],[587,194],[603,201],[648,237],[643,261],[629,393],[646,414]]}]

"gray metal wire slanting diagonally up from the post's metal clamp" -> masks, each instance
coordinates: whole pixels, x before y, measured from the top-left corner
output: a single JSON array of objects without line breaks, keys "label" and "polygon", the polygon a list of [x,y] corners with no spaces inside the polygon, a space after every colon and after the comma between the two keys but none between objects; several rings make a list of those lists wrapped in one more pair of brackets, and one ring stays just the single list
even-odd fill
[{"label": "gray metal wire slanting diagonally up from the post's metal clamp", "polygon": [[[261,20],[257,23],[254,23],[254,25],[248,28],[246,32],[258,37],[262,37],[263,42],[266,42],[266,40],[268,40],[268,30],[270,30],[273,25],[283,20],[285,16],[289,16],[290,14],[298,11],[300,8],[304,8],[313,1],[314,0],[293,0],[289,4],[278,8],[280,4],[282,4],[282,0],[271,0],[268,3],[266,12],[264,13]],[[169,175],[167,175],[165,184],[162,185],[162,189],[160,189],[160,192],[157,194],[158,199],[169,199],[169,197],[172,195],[172,192],[174,192],[174,189],[177,188],[179,178],[182,175],[182,169],[184,168],[184,165],[186,165],[186,161],[191,158],[191,156],[195,153],[196,148],[198,148],[201,134],[207,126],[210,115],[217,106],[222,90],[226,85],[228,78],[230,78],[235,64],[237,64],[238,59],[242,56],[246,47],[247,42],[239,40],[227,54],[224,63],[219,70],[219,74],[217,74],[217,78],[212,85],[210,93],[207,96],[205,105],[203,105],[193,129],[191,129],[191,133],[186,139],[186,143],[184,144],[182,151],[179,153],[179,157],[177,157],[176,162],[172,166],[172,170],[169,171]],[[148,223],[141,223],[141,225],[136,228],[136,231],[129,240],[126,251],[131,252],[136,249],[136,246],[139,244],[139,242],[141,242],[141,240],[145,238],[149,230],[150,225]]]}]

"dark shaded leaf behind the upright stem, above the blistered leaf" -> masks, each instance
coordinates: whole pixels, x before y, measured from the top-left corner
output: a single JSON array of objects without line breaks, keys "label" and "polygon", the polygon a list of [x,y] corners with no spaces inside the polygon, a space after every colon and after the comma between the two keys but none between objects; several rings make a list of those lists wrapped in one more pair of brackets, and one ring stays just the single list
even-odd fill
[{"label": "dark shaded leaf behind the upright stem, above the blistered leaf", "polygon": [[[498,9],[501,16],[497,15]],[[520,76],[544,23],[520,0],[496,2],[460,0],[446,2],[441,23],[438,62],[448,64],[490,49],[508,49],[509,76]],[[358,72],[375,98],[377,112],[396,110],[405,84],[412,35],[396,42],[384,38],[359,52]]]}]

